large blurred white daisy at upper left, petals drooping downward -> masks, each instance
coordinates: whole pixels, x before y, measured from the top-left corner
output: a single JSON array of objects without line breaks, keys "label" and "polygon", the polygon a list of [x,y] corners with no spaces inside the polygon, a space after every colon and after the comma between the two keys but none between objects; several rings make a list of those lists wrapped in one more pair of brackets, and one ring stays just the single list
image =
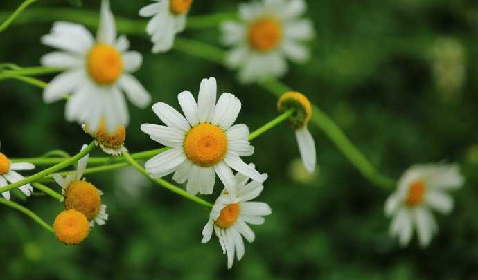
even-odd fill
[{"label": "large blurred white daisy at upper left, petals drooping downward", "polygon": [[102,1],[96,39],[84,26],[60,21],[42,37],[42,43],[61,50],[44,55],[42,64],[65,70],[48,84],[43,98],[51,103],[70,94],[65,109],[68,121],[87,123],[96,131],[104,119],[108,131],[114,132],[130,118],[122,92],[140,108],[150,103],[148,91],[130,74],[139,69],[143,57],[128,51],[125,36],[116,38],[108,0]]}]

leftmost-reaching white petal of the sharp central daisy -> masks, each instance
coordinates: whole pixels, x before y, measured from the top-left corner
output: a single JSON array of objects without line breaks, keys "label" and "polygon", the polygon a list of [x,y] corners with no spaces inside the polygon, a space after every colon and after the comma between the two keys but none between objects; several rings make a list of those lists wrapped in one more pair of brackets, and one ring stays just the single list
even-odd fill
[{"label": "leftmost-reaching white petal of the sharp central daisy", "polygon": [[157,124],[141,124],[141,131],[151,136],[151,139],[166,147],[181,147],[184,142],[184,132],[173,127]]}]

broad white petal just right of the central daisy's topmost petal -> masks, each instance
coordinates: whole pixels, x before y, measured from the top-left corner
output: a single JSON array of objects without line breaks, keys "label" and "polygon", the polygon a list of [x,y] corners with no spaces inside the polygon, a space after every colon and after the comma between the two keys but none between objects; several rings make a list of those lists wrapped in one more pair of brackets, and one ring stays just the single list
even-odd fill
[{"label": "broad white petal just right of the central daisy's topmost petal", "polygon": [[214,109],[212,124],[226,130],[236,122],[240,112],[240,100],[231,93],[222,93]]}]

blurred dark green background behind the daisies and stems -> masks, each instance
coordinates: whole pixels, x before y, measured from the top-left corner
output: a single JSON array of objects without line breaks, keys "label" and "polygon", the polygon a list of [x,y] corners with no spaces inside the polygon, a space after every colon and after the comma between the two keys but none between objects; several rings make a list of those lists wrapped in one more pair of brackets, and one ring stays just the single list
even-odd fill
[{"label": "blurred dark green background behind the daisies and stems", "polygon": [[[39,2],[31,9],[71,7],[66,1]],[[195,1],[190,15],[232,12],[238,2],[243,1]],[[19,3],[3,0],[0,10]],[[138,10],[148,3],[112,0],[112,10],[139,19]],[[330,114],[384,174],[398,178],[418,162],[446,160],[463,167],[466,186],[454,194],[454,212],[436,216],[439,234],[429,248],[421,250],[414,239],[403,249],[389,238],[383,214],[389,192],[365,180],[312,125],[319,171],[304,176],[294,133],[283,124],[254,140],[256,153],[245,158],[269,174],[258,200],[274,213],[265,225],[253,226],[256,241],[246,245],[245,257],[231,270],[215,237],[200,243],[209,212],[122,169],[88,177],[105,192],[109,221],[76,247],[0,206],[0,279],[478,279],[477,2],[310,0],[308,5],[317,30],[312,60],[291,64],[283,82]],[[99,6],[84,1],[81,9]],[[39,42],[49,28],[10,26],[0,34],[0,62],[38,66],[39,57],[52,50]],[[219,44],[217,28],[182,36]],[[220,92],[241,99],[238,121],[251,130],[277,115],[275,97],[238,84],[235,73],[222,66],[175,50],[152,55],[148,40],[129,38],[131,49],[144,55],[136,77],[154,102],[179,109],[179,92],[196,95],[202,78],[216,77]],[[64,121],[64,102],[44,104],[39,88],[3,80],[0,95],[1,152],[7,156],[40,156],[52,149],[76,153],[91,141],[78,125]],[[159,122],[152,111],[130,106],[130,114],[130,151],[157,148],[139,130],[141,123]],[[21,204],[48,223],[62,210],[44,196]]]}]

